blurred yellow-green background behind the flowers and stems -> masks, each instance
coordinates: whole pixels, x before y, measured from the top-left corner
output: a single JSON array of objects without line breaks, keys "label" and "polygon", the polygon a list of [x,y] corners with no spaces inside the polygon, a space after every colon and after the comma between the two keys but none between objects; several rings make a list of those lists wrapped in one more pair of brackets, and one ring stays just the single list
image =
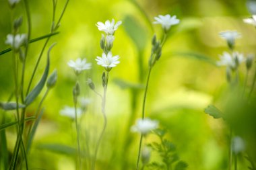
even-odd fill
[{"label": "blurred yellow-green background behind the flowers and stems", "polygon": [[[251,16],[247,8],[248,1],[143,0],[136,2],[140,8],[132,0],[71,0],[69,2],[59,28],[60,34],[53,36],[48,44],[49,47],[53,42],[57,42],[51,52],[51,71],[57,69],[58,80],[56,87],[51,90],[43,104],[45,113],[36,132],[32,152],[28,156],[30,167],[75,169],[73,150],[61,147],[65,145],[75,148],[74,124],[69,118],[61,116],[59,111],[64,105],[73,105],[72,88],[75,85],[75,75],[67,66],[67,62],[78,57],[87,58],[92,62],[92,69],[80,77],[83,95],[92,100],[88,112],[81,119],[81,133],[84,151],[86,152],[86,140],[90,148],[95,147],[96,136],[102,127],[100,100],[87,87],[86,79],[92,78],[97,91],[102,92],[100,81],[103,68],[96,65],[95,61],[96,56],[102,54],[99,44],[101,32],[98,31],[96,23],[114,18],[116,21],[123,21],[115,33],[113,46],[113,54],[119,54],[121,63],[110,71],[106,101],[108,126],[98,154],[97,167],[98,169],[122,169],[121,164],[125,159],[128,163],[126,169],[135,169],[139,135],[127,131],[127,125],[132,113],[135,113],[136,118],[141,115],[143,89],[134,91],[121,88],[120,81],[135,85],[145,84],[151,38],[154,32],[158,37],[162,34],[159,25],[152,26],[150,23],[154,21],[154,16],[170,13],[170,15],[177,15],[181,23],[171,28],[171,36],[152,71],[146,101],[146,116],[159,120],[160,125],[168,130],[168,138],[177,146],[181,159],[189,164],[188,169],[227,169],[228,127],[223,120],[214,120],[203,110],[210,103],[216,103],[222,108],[220,98],[228,89],[225,69],[213,64],[218,60],[219,54],[228,51],[226,42],[218,36],[218,33],[237,30],[243,37],[237,40],[236,50],[245,54],[256,52],[255,28],[243,23],[243,18]],[[32,38],[49,34],[52,1],[30,1],[29,3],[32,13]],[[64,3],[65,1],[58,1],[57,16],[60,15]],[[21,1],[14,10],[11,10],[7,1],[0,0],[0,11],[0,50],[5,50],[9,48],[5,44],[5,38],[11,32],[13,18],[20,15],[24,17],[20,33],[26,33],[24,3]],[[137,24],[141,29],[139,31],[142,32],[138,32],[131,23]],[[139,47],[127,33],[129,29],[137,32]],[[43,44],[44,40],[30,44],[25,86],[28,85]],[[195,57],[191,55],[192,53],[200,55]],[[138,58],[141,58],[141,63],[138,62]],[[40,62],[33,85],[36,85],[40,79],[45,63],[46,52]],[[1,55],[0,101],[7,101],[14,88],[11,67],[11,52]],[[241,71],[245,72],[245,66],[241,67]],[[243,73],[241,78],[244,79]],[[135,103],[131,103],[134,93],[137,93]],[[42,94],[28,108],[27,116],[35,112],[40,98]],[[14,120],[13,112],[5,113],[5,116],[7,120]],[[127,135],[133,138],[128,151],[123,148]],[[8,128],[7,140],[9,151],[12,152],[15,144],[15,128]],[[247,165],[246,161],[241,162],[241,167],[244,165]]]}]

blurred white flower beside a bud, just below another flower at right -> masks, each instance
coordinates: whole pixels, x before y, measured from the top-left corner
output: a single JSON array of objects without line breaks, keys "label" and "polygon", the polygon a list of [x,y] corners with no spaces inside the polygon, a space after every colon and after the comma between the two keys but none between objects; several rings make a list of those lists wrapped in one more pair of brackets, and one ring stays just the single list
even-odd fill
[{"label": "blurred white flower beside a bud, just below another flower at right", "polygon": [[232,54],[230,54],[228,52],[223,52],[223,54],[220,55],[220,60],[216,62],[216,65],[228,66],[231,69],[235,69],[238,65],[241,64],[241,62],[244,61],[245,57],[242,53],[233,52]]}]

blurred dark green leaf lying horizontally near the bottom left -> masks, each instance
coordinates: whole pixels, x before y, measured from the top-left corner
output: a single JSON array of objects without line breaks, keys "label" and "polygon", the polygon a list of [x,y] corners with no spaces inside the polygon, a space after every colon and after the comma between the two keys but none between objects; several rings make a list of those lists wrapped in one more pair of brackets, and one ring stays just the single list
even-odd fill
[{"label": "blurred dark green leaf lying horizontally near the bottom left", "polygon": [[76,154],[75,148],[73,148],[71,146],[64,145],[64,144],[39,144],[37,146],[37,148],[45,149],[48,151],[52,151],[54,153],[60,153],[60,154],[64,154],[64,155],[75,155]]}]

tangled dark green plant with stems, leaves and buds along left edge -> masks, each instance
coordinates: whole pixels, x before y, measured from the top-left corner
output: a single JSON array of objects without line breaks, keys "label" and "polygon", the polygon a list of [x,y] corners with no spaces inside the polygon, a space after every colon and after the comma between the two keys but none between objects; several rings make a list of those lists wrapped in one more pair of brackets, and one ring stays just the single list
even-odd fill
[{"label": "tangled dark green plant with stems, leaves and buds along left edge", "polygon": [[[5,44],[7,44],[10,48],[3,50],[0,52],[1,55],[11,52],[11,60],[12,65],[11,68],[13,69],[13,82],[14,82],[14,89],[13,95],[10,95],[7,102],[1,102],[0,108],[4,111],[12,111],[15,113],[15,122],[3,122],[4,124],[1,125],[1,130],[5,130],[5,128],[9,128],[10,126],[15,125],[16,127],[16,140],[15,146],[13,148],[13,153],[11,155],[11,160],[4,159],[5,163],[1,166],[3,169],[19,169],[24,168],[31,169],[30,164],[28,162],[28,155],[31,150],[32,142],[34,139],[34,134],[42,118],[42,114],[44,113],[44,108],[42,108],[43,101],[48,95],[49,91],[55,86],[57,82],[57,71],[53,71],[51,75],[50,72],[50,52],[55,44],[49,47],[46,56],[46,66],[44,67],[44,73],[40,78],[40,81],[32,88],[32,82],[34,81],[34,76],[36,75],[36,71],[38,66],[40,65],[40,60],[44,54],[44,50],[47,48],[47,44],[50,38],[56,34],[58,34],[57,28],[59,28],[59,24],[61,19],[65,13],[65,9],[67,7],[69,0],[66,1],[65,6],[61,11],[61,15],[57,22],[55,22],[55,11],[57,7],[57,1],[53,0],[53,20],[52,20],[52,27],[51,33],[46,34],[44,36],[40,36],[38,38],[31,38],[32,32],[32,20],[30,15],[30,3],[27,0],[9,0],[9,7],[11,9],[11,13],[14,13],[15,7],[20,5],[20,3],[24,4],[24,11],[26,12],[26,23],[23,23],[23,17],[18,17],[12,19],[12,27],[10,30],[10,34],[7,34]],[[16,11],[15,11],[16,12]],[[21,15],[21,13],[19,13]],[[22,24],[26,24],[27,30],[25,32],[20,32],[20,28]],[[55,25],[57,24],[57,25]],[[30,48],[31,42],[37,42],[38,40],[45,40],[42,50],[40,50],[40,55],[36,60],[35,67],[32,71],[32,75],[30,79],[27,79],[25,76],[28,72],[27,69],[27,62],[28,62],[28,52],[33,50]],[[28,82],[28,87],[25,86],[24,82]],[[38,95],[42,93],[42,89],[46,87],[46,91],[42,95],[40,102],[37,105],[36,110],[32,113],[32,116],[28,116],[27,109],[30,108],[30,105],[34,103],[34,100],[38,98]],[[12,101],[14,98],[15,101]],[[3,115],[5,116],[5,115]],[[30,120],[30,124],[26,124],[26,122]],[[6,134],[1,136],[1,138],[5,138]],[[3,145],[4,146],[4,145]],[[7,147],[7,145],[5,145]],[[1,151],[1,157],[8,157],[7,148]],[[22,157],[20,157],[22,155]]]}]

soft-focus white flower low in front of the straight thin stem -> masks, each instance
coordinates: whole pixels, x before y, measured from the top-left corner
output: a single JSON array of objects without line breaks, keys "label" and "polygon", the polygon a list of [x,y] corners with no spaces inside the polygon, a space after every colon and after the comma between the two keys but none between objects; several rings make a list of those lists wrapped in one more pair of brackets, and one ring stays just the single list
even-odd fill
[{"label": "soft-focus white flower low in front of the straight thin stem", "polygon": [[158,121],[150,120],[150,118],[138,119],[136,124],[131,127],[132,132],[139,132],[143,135],[148,134],[150,131],[158,128]]}]

